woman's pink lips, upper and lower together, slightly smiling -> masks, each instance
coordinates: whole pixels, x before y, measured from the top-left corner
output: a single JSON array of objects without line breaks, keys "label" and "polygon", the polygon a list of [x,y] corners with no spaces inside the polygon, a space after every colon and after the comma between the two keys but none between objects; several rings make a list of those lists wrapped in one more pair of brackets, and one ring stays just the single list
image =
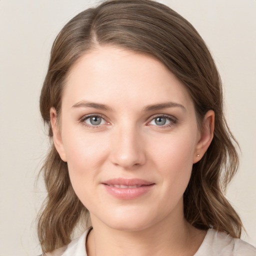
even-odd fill
[{"label": "woman's pink lips, upper and lower together, slightly smiling", "polygon": [[113,178],[105,180],[101,184],[108,193],[116,198],[134,199],[150,191],[155,183],[139,178]]}]

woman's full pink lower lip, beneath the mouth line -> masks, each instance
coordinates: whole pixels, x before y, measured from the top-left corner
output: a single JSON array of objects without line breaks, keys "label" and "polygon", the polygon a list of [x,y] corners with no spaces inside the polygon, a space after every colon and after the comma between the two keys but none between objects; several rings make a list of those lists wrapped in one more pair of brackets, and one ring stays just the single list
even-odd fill
[{"label": "woman's full pink lower lip, beneath the mouth line", "polygon": [[147,193],[154,184],[120,188],[103,184],[108,193],[119,199],[134,199]]}]

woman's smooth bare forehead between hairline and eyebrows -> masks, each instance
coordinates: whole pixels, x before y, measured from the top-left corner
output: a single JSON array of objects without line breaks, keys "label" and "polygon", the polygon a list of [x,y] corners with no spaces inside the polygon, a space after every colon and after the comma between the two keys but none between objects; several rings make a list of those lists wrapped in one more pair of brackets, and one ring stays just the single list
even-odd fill
[{"label": "woman's smooth bare forehead between hairline and eyebrows", "polygon": [[184,85],[159,60],[114,46],[85,53],[71,68],[62,101],[70,105],[80,100],[130,107],[161,101],[192,104]]}]

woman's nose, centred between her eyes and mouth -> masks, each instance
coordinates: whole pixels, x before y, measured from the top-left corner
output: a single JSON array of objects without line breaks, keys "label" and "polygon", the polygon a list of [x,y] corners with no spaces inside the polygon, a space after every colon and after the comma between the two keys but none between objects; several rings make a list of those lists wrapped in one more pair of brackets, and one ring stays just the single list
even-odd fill
[{"label": "woman's nose, centred between her eyes and mouth", "polygon": [[143,141],[141,132],[135,128],[116,128],[111,139],[111,162],[123,169],[134,169],[143,165],[146,161]]}]

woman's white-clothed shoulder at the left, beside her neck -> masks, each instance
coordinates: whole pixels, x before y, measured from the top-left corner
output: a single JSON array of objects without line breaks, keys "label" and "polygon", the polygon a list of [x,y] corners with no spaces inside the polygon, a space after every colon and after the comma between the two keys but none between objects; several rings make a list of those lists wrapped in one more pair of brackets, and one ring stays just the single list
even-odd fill
[{"label": "woman's white-clothed shoulder at the left, beside her neck", "polygon": [[45,256],[78,256],[78,255],[86,256],[87,254],[85,249],[85,242],[86,242],[86,237],[90,230],[91,228],[86,229],[80,237],[72,240],[70,243],[68,243],[63,247],[57,248],[51,252],[47,252],[44,255]]}]

